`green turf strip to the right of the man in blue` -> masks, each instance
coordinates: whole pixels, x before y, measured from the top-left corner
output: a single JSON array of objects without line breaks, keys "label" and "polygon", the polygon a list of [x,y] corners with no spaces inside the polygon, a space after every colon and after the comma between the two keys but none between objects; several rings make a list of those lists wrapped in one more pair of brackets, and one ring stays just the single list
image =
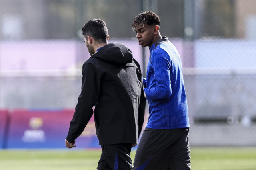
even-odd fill
[{"label": "green turf strip to the right of the man in blue", "polygon": [[192,170],[256,170],[256,148],[191,148]]}]

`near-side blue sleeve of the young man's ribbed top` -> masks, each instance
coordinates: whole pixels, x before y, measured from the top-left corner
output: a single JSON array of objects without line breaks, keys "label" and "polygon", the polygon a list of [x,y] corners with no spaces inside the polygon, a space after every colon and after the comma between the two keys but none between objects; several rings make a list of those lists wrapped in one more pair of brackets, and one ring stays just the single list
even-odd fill
[{"label": "near-side blue sleeve of the young man's ribbed top", "polygon": [[151,55],[156,85],[152,88],[144,88],[148,100],[169,98],[172,94],[170,69],[170,56],[161,48],[154,50]]}]

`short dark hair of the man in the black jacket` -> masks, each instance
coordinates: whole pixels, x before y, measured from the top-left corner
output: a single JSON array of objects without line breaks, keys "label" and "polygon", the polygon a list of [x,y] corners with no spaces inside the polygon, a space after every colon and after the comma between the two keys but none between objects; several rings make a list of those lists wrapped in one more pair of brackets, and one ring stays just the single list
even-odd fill
[{"label": "short dark hair of the man in the black jacket", "polygon": [[82,34],[93,37],[95,41],[106,43],[108,38],[108,29],[106,23],[101,19],[93,19],[88,21],[82,27]]}]

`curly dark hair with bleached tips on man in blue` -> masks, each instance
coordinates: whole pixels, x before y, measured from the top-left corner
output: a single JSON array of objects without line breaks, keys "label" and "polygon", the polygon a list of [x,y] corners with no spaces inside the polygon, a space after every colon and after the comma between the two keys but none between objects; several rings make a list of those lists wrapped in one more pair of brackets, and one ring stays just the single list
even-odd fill
[{"label": "curly dark hair with bleached tips on man in blue", "polygon": [[143,26],[144,24],[147,24],[147,25],[156,24],[160,26],[160,18],[156,13],[152,11],[142,12],[134,18],[132,22],[132,29],[134,30],[140,26]]}]

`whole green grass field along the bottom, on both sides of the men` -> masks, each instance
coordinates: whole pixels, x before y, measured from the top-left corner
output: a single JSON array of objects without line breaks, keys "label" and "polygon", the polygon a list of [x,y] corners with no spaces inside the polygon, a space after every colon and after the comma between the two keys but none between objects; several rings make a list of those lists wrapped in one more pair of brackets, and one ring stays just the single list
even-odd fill
[{"label": "whole green grass field along the bottom, on both sides of the men", "polygon": [[[0,150],[0,170],[96,170],[100,150]],[[131,157],[134,160],[135,150]],[[256,148],[191,148],[192,170],[256,170]]]}]

